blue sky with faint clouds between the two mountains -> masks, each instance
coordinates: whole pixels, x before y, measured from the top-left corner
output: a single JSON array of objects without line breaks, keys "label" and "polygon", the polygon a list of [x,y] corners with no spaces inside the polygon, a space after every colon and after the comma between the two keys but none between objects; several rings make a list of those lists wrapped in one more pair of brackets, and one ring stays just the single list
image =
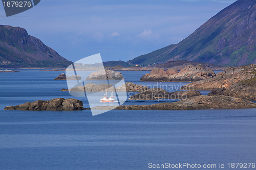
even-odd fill
[{"label": "blue sky with faint clouds between the two mountains", "polygon": [[41,0],[0,25],[22,27],[59,55],[77,61],[128,61],[179,43],[235,0]]}]

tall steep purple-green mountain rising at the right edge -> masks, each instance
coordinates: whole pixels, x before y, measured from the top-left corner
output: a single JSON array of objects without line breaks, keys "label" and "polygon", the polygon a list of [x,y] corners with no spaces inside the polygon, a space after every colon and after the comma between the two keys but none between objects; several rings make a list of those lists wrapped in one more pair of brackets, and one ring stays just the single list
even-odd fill
[{"label": "tall steep purple-green mountain rising at the right edge", "polygon": [[215,65],[256,63],[256,0],[239,0],[178,44],[130,60],[132,64],[188,60]]}]

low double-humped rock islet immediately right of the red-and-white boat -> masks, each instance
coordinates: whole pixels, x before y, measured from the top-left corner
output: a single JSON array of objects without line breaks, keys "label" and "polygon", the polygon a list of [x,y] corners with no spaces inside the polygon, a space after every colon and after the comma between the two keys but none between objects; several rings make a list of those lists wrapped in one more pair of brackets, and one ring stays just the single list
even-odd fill
[{"label": "low double-humped rock islet immediately right of the red-and-white boat", "polygon": [[132,95],[129,100],[187,99],[201,95],[199,91],[175,91],[169,93],[161,88],[151,88]]}]

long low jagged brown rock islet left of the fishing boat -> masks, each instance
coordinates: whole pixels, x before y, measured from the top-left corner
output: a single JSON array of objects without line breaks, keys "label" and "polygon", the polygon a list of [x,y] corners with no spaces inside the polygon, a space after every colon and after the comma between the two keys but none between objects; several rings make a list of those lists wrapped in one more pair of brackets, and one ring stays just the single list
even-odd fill
[{"label": "long low jagged brown rock islet left of the fishing boat", "polygon": [[4,110],[84,110],[82,101],[56,98],[50,101],[34,101],[17,106],[7,106]]}]

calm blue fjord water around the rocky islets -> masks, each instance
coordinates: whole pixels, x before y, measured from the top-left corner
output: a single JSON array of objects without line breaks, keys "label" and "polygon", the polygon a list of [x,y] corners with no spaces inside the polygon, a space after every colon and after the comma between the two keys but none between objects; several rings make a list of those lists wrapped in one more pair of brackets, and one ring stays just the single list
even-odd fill
[{"label": "calm blue fjord water around the rocky islets", "polygon": [[[126,170],[183,162],[217,164],[215,169],[225,163],[228,169],[227,163],[256,163],[256,109],[112,110],[97,116],[90,110],[4,110],[53,98],[75,98],[89,107],[86,98],[59,91],[67,88],[66,81],[53,81],[61,73],[35,69],[0,74],[0,169]],[[125,81],[156,85],[139,82],[145,73],[122,72]]]}]

